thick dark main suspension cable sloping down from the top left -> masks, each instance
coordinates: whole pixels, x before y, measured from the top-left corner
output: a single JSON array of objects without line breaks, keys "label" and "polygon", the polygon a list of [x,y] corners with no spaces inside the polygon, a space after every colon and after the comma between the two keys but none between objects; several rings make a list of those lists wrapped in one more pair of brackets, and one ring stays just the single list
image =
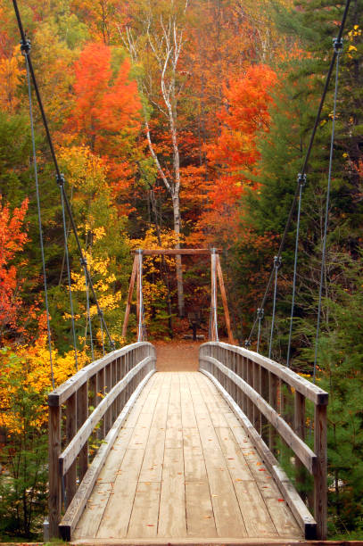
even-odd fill
[{"label": "thick dark main suspension cable sloping down from the top left", "polygon": [[[18,21],[19,31],[20,31],[20,34],[21,34],[21,45],[26,47],[27,37],[25,35],[24,29],[23,29],[23,26],[22,26],[21,14],[19,12],[17,0],[12,0],[12,4],[13,4],[13,7],[14,7],[16,19]],[[54,152],[54,145],[53,145],[52,136],[50,134],[48,122],[47,122],[47,119],[46,119],[46,116],[45,116],[45,110],[44,110],[44,107],[43,107],[42,98],[41,98],[41,95],[40,95],[40,92],[39,92],[39,87],[37,86],[37,78],[36,78],[34,68],[33,68],[33,64],[31,62],[31,58],[30,58],[29,54],[27,55],[27,59],[28,59],[28,64],[29,64],[29,72],[30,72],[31,79],[33,81],[34,90],[35,90],[36,96],[37,96],[37,103],[38,103],[38,106],[39,106],[39,110],[40,110],[41,117],[42,117],[42,120],[43,120],[43,125],[44,125],[44,128],[45,128],[46,139],[48,141],[48,145],[49,145],[50,152],[51,152],[51,155],[52,155],[52,159],[53,159],[53,162],[54,162],[56,180],[57,180],[57,183],[59,184],[59,180],[64,179],[64,176],[61,173],[61,170],[59,168],[58,161],[57,161],[57,158],[56,158],[56,155],[55,155],[55,152]],[[75,220],[73,218],[73,213],[72,213],[71,208],[70,208],[70,201],[69,201],[68,196],[67,196],[67,194],[66,194],[66,192],[64,190],[64,185],[62,185],[62,194],[63,194],[66,210],[67,210],[67,213],[68,213],[69,218],[70,218],[70,225],[71,225],[72,231],[74,233],[74,236],[76,238],[76,244],[77,244],[77,248],[78,248],[79,257],[80,257],[80,260],[84,260],[84,254],[83,254],[82,247],[81,247],[79,237],[78,237],[78,230],[77,230],[77,227],[76,227]],[[87,276],[87,283],[88,283],[88,286],[91,289],[92,295],[94,297],[95,305],[97,307],[97,311],[101,310],[98,299],[97,299],[97,296],[95,294],[95,287],[93,285],[90,272],[89,272],[87,267],[86,267],[85,270],[86,270],[86,276]],[[111,348],[113,349],[114,348],[114,342],[111,339],[111,335],[110,335],[109,329],[107,327],[107,324],[106,324],[106,322],[104,320],[104,317],[103,317],[103,327],[105,329],[106,335],[107,335],[107,337],[109,339],[109,342],[111,344]]]}]

